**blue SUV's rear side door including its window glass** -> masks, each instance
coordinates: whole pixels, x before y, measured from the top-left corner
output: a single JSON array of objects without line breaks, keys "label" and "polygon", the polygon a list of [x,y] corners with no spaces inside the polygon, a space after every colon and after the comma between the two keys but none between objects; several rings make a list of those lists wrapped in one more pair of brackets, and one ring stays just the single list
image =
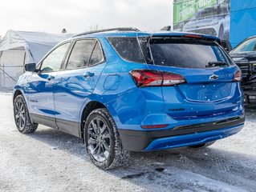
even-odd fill
[{"label": "blue SUV's rear side door including its window glass", "polygon": [[79,136],[79,114],[93,92],[106,62],[100,42],[79,39],[74,42],[66,69],[55,78],[56,123],[60,130]]}]

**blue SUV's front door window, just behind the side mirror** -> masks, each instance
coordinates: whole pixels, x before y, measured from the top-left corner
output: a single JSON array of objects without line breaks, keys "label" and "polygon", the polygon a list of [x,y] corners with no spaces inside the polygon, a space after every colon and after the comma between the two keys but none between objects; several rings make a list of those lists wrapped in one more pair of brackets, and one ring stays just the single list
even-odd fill
[{"label": "blue SUV's front door window, just behind the side mirror", "polygon": [[55,50],[53,50],[51,54],[49,54],[47,58],[43,60],[41,71],[49,72],[59,70],[69,45],[70,42],[59,46]]}]

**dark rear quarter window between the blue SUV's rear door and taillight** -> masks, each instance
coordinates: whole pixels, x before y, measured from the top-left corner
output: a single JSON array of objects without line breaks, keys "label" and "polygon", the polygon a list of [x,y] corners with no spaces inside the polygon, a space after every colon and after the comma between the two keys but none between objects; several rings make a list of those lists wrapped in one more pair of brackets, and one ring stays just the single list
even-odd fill
[{"label": "dark rear quarter window between the blue SUV's rear door and taillight", "polygon": [[126,61],[145,62],[137,38],[108,38],[116,52]]}]

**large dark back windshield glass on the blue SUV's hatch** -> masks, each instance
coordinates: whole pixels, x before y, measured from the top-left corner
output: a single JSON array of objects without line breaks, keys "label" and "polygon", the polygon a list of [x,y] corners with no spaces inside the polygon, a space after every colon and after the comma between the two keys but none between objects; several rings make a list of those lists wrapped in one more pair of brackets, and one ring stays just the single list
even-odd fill
[{"label": "large dark back windshield glass on the blue SUV's hatch", "polygon": [[226,62],[229,58],[214,42],[152,39],[152,58],[159,66],[205,69],[209,62]]}]

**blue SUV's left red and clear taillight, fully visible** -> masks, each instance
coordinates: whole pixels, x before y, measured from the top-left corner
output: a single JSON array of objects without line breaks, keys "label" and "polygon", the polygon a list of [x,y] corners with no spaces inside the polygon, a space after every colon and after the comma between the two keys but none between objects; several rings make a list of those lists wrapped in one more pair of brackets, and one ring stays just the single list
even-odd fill
[{"label": "blue SUV's left red and clear taillight, fully visible", "polygon": [[185,78],[181,74],[167,73],[158,70],[132,70],[130,72],[136,82],[136,86],[176,86],[184,83]]}]

